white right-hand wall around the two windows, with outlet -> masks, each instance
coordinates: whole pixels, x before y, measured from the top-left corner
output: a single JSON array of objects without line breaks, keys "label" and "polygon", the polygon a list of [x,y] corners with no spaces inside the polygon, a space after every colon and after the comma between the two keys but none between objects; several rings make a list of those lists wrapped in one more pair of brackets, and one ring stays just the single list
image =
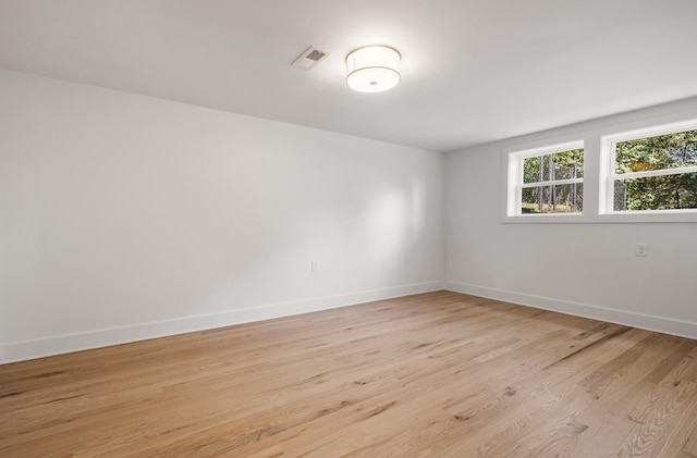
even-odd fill
[{"label": "white right-hand wall around the two windows, with outlet", "polygon": [[696,223],[502,222],[505,149],[585,138],[586,164],[598,166],[601,135],[688,119],[697,99],[449,153],[447,287],[697,337]]}]

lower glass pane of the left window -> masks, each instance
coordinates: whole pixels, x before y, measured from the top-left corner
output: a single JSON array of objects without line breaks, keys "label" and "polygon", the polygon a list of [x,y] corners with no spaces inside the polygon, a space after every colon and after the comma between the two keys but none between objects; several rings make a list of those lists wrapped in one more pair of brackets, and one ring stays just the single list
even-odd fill
[{"label": "lower glass pane of the left window", "polygon": [[577,213],[583,210],[583,184],[523,188],[522,213]]}]

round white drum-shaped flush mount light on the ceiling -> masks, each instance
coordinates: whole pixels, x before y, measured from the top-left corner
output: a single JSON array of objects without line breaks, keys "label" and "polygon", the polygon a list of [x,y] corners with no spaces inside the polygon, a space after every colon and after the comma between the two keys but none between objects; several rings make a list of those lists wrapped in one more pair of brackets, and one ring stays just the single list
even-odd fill
[{"label": "round white drum-shaped flush mount light on the ceiling", "polygon": [[348,87],[360,92],[381,92],[400,82],[400,51],[384,45],[364,46],[346,55]]}]

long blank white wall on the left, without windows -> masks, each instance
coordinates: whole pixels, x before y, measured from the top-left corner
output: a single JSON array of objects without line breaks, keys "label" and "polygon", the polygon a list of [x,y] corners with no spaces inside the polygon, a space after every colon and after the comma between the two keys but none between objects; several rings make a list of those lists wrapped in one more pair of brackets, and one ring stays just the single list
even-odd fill
[{"label": "long blank white wall on the left, without windows", "polygon": [[440,289],[442,175],[431,151],[0,71],[0,362]]}]

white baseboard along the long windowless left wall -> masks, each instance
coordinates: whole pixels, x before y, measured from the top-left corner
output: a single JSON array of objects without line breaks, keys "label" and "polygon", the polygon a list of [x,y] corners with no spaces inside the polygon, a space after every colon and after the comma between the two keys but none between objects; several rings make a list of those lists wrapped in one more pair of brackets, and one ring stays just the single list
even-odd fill
[{"label": "white baseboard along the long windowless left wall", "polygon": [[142,323],[132,326],[90,331],[80,334],[52,336],[36,341],[0,345],[0,363],[23,361],[46,356],[126,344],[149,338],[230,326],[253,321],[308,313],[313,311],[352,306],[372,300],[429,293],[443,288],[442,282],[427,282],[390,288],[370,289],[338,296],[319,297],[291,302],[271,304],[249,309],[231,310],[215,314],[184,317],[174,320]]}]

